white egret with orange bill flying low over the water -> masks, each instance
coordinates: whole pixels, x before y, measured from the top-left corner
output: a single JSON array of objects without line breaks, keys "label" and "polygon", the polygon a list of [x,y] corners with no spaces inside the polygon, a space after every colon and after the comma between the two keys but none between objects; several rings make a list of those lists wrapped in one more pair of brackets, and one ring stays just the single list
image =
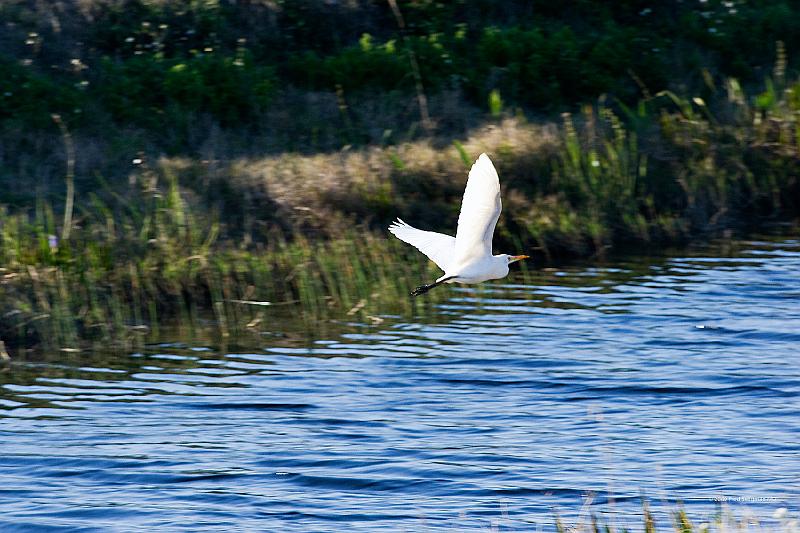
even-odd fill
[{"label": "white egret with orange bill flying low over the water", "polygon": [[442,283],[481,283],[508,275],[508,265],[527,255],[492,255],[492,236],[500,218],[500,180],[492,161],[481,154],[467,178],[456,236],[423,231],[397,219],[389,231],[407,242],[444,271],[435,282],[414,289],[419,296]]}]

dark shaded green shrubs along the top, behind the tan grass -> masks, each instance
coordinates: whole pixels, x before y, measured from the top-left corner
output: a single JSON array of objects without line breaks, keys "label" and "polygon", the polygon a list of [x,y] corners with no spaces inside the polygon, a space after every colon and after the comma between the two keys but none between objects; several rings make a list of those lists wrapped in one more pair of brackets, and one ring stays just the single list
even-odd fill
[{"label": "dark shaded green shrubs along the top, behind the tan grass", "polygon": [[105,158],[118,156],[110,131],[173,155],[202,155],[214,128],[227,140],[216,155],[329,150],[420,134],[420,88],[436,133],[463,135],[487,102],[553,113],[606,93],[707,98],[703,69],[749,86],[777,41],[800,57],[786,0],[399,7],[402,27],[382,0],[3,2],[0,134],[52,131],[57,113],[104,138]]}]

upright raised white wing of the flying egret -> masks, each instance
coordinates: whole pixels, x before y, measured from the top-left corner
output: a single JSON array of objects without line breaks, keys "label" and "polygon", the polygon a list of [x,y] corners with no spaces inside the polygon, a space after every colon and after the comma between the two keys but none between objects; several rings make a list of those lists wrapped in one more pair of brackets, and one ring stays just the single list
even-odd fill
[{"label": "upright raised white wing of the flying egret", "polygon": [[492,255],[492,236],[500,218],[500,179],[492,161],[481,154],[467,178],[458,215],[455,256],[459,260]]}]

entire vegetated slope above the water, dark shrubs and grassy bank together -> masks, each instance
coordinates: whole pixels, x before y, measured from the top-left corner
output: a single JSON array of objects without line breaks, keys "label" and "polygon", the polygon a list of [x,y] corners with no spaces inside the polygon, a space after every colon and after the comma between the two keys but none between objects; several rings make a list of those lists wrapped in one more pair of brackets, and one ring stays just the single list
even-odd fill
[{"label": "entire vegetated slope above the water, dark shrubs and grassy bank together", "polygon": [[412,312],[483,151],[538,262],[797,217],[793,3],[551,4],[3,3],[0,339]]}]

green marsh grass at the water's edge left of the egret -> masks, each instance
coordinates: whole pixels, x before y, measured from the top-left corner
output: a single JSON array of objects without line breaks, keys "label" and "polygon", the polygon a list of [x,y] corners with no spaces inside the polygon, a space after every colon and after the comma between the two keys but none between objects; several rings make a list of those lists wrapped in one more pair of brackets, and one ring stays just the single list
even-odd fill
[{"label": "green marsh grass at the water's edge left of the egret", "polygon": [[435,275],[419,258],[398,261],[398,243],[357,229],[319,241],[275,230],[250,249],[222,242],[218,219],[189,207],[175,179],[148,187],[113,204],[92,197],[69,239],[56,237],[50,205],[0,211],[0,338],[129,346],[160,323],[227,337],[268,322],[274,307],[309,324],[378,321],[378,310],[412,312],[409,287]]}]

